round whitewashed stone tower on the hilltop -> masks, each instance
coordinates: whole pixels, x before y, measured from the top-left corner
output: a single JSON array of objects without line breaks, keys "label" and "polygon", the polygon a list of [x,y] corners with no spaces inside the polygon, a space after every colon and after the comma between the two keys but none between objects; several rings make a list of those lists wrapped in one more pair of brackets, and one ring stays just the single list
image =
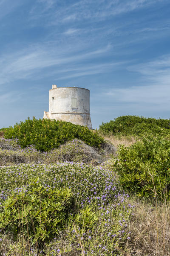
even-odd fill
[{"label": "round whitewashed stone tower on the hilltop", "polygon": [[43,118],[56,119],[92,129],[90,117],[90,91],[80,87],[57,87],[49,90],[49,111]]}]

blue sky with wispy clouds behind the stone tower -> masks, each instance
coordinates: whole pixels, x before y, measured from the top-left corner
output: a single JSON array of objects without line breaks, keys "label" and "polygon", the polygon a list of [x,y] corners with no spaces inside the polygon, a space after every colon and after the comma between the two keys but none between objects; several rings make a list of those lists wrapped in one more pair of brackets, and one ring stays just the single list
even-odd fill
[{"label": "blue sky with wispy clouds behind the stone tower", "polygon": [[48,90],[91,91],[93,128],[170,118],[170,0],[0,0],[0,128],[48,111]]}]

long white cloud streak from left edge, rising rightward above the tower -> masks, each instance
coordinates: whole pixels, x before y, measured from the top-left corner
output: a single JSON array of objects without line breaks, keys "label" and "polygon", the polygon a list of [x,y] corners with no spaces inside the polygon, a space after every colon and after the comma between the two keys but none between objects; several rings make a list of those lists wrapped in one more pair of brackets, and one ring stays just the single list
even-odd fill
[{"label": "long white cloud streak from left edge, rising rightward above the tower", "polygon": [[[76,52],[76,49],[76,46],[71,51],[63,48],[42,49],[36,47],[35,49],[24,49],[13,55],[2,55],[0,58],[0,84],[28,77],[34,79],[34,76],[36,79],[35,74],[37,72],[49,67],[56,66],[60,68],[61,65],[66,66],[73,62],[79,66],[79,62],[94,60],[103,54],[107,54],[111,45],[108,44],[105,47],[91,51],[86,49],[85,51]],[[48,70],[43,70],[43,73],[41,76],[46,75]]]}]

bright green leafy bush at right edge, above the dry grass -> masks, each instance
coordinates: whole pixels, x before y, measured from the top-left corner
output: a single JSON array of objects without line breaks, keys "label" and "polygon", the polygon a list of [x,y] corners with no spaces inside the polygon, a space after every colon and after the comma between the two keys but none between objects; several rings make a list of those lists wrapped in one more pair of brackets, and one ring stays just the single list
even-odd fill
[{"label": "bright green leafy bush at right edge, above the dry grass", "polygon": [[170,199],[170,140],[163,137],[144,137],[129,148],[119,146],[116,169],[120,184],[139,196],[159,196]]}]

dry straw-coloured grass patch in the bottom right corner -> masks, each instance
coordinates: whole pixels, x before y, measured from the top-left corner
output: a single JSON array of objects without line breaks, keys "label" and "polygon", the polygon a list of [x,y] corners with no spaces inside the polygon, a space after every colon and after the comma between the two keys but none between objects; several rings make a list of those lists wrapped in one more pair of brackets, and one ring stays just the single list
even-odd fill
[{"label": "dry straw-coloured grass patch in the bottom right corner", "polygon": [[[134,204],[134,201],[133,201]],[[129,223],[130,240],[125,256],[170,256],[170,204],[152,207],[148,202],[134,204]]]}]

